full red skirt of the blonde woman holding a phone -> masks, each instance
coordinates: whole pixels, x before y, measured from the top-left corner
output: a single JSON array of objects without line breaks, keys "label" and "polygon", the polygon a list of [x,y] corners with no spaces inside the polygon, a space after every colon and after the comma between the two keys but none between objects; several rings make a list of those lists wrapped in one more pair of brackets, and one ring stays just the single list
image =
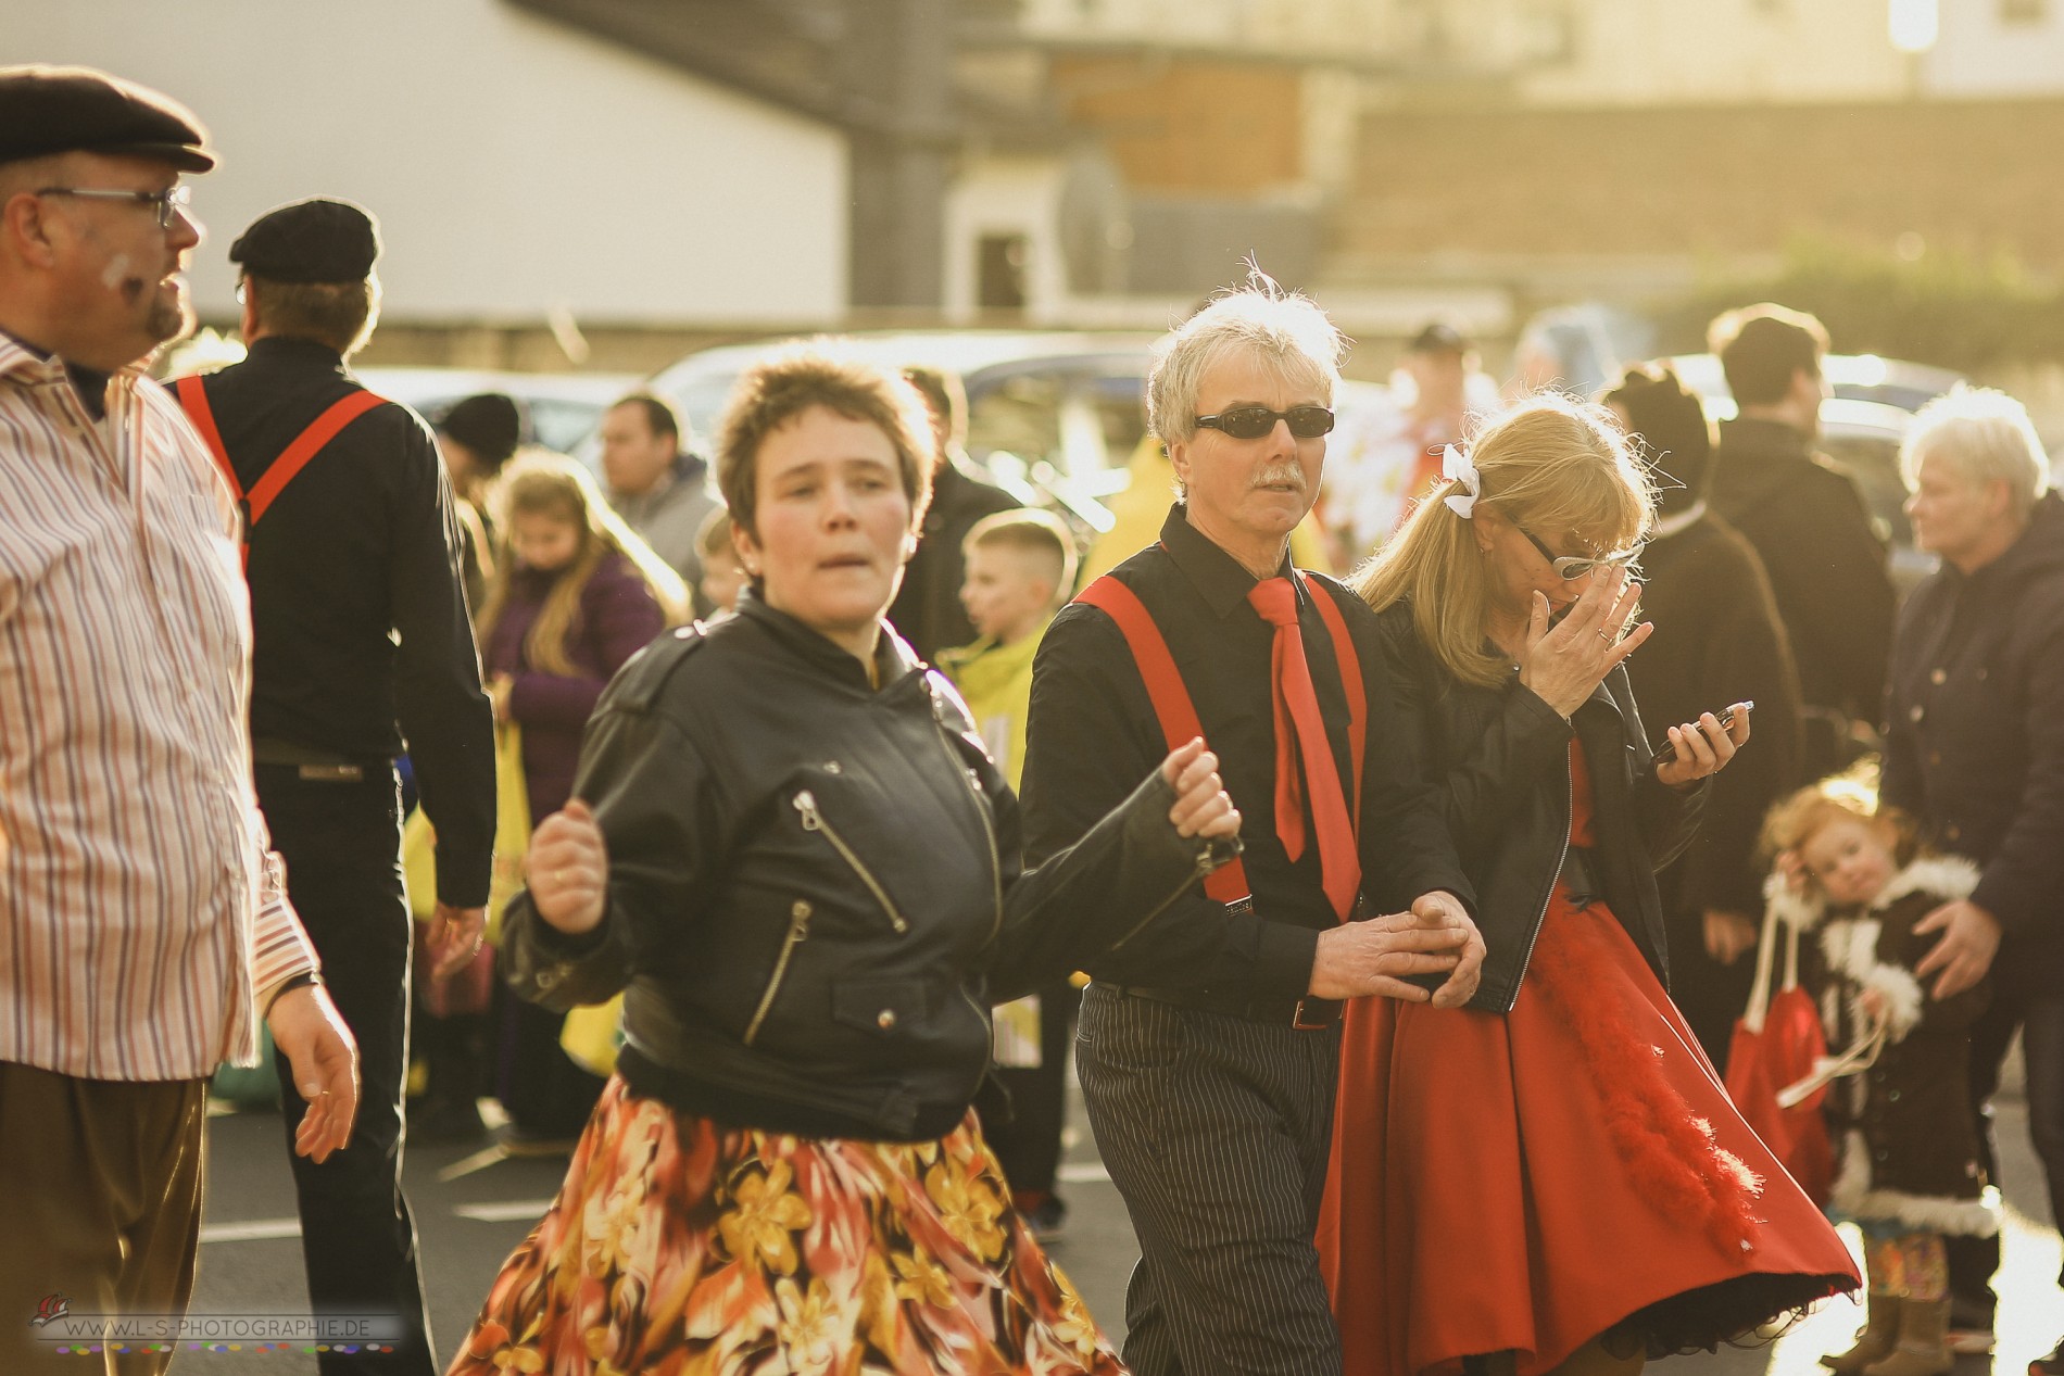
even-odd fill
[{"label": "full red skirt of the blonde woman holding a phone", "polygon": [[1659,1357],[1856,1289],[1604,904],[1558,887],[1505,1017],[1348,1007],[1319,1252],[1348,1372]]}]

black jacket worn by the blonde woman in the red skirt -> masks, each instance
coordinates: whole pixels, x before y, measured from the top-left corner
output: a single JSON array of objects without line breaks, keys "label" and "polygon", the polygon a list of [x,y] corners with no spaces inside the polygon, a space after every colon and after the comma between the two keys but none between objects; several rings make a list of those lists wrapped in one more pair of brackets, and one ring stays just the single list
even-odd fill
[{"label": "black jacket worn by the blonde woman in the red skirt", "polygon": [[1573,728],[1591,772],[1598,897],[1668,986],[1655,871],[1690,844],[1707,784],[1670,788],[1655,780],[1626,670],[1614,668],[1565,722],[1519,683],[1519,675],[1494,689],[1457,683],[1414,629],[1410,602],[1377,615],[1385,644],[1420,679],[1420,706],[1432,732],[1428,769],[1447,780],[1447,823],[1476,885],[1476,926],[1488,955],[1470,1007],[1511,1013],[1519,998],[1569,854]]}]

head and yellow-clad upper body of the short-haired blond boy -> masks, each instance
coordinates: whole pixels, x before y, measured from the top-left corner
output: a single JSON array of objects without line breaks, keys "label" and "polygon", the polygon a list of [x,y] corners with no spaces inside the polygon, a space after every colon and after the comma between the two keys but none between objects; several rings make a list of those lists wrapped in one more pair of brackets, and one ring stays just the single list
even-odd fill
[{"label": "head and yellow-clad upper body of the short-haired blond boy", "polygon": [[980,635],[939,652],[982,730],[1003,778],[1024,774],[1026,714],[1032,708],[1032,656],[1046,623],[1075,590],[1075,543],[1046,512],[997,512],[968,530],[960,604]]}]

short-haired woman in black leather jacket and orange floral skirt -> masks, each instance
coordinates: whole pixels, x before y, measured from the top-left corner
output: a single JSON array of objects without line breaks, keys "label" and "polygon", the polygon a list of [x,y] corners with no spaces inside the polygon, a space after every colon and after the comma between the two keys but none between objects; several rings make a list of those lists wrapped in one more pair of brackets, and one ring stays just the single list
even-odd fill
[{"label": "short-haired woman in black leather jacket and orange floral skirt", "polygon": [[[821,349],[739,382],[751,586],[609,687],[506,920],[524,996],[623,990],[619,1073],[452,1372],[1121,1370],[968,1108],[989,1005],[1133,937],[1238,813],[1193,741],[1022,866],[966,708],[881,619],[927,435],[908,384]],[[1092,928],[1110,893],[1137,924]]]}]

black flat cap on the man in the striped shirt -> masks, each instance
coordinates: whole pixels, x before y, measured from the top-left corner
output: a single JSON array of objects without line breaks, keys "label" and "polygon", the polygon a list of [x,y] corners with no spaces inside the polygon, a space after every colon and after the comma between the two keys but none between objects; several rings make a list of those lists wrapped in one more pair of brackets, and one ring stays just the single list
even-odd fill
[{"label": "black flat cap on the man in the striped shirt", "polygon": [[0,163],[52,153],[155,157],[208,171],[215,151],[194,111],[91,66],[0,66]]}]

